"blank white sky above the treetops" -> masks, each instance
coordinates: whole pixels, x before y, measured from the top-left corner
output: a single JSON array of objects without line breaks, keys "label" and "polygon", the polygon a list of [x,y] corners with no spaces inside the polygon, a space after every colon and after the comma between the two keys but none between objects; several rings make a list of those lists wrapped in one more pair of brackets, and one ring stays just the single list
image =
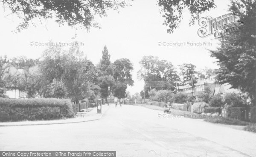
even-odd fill
[{"label": "blank white sky above the treetops", "polygon": [[[215,0],[216,8],[206,11],[200,17],[210,15],[218,17],[228,13],[229,0]],[[48,43],[50,40],[57,43],[70,43],[76,40],[82,43],[81,51],[87,59],[94,64],[99,63],[104,46],[107,46],[111,55],[111,62],[116,59],[128,58],[134,65],[134,86],[128,87],[131,94],[143,90],[143,80],[138,80],[137,71],[140,70],[139,62],[143,56],[157,56],[160,60],[168,60],[174,66],[183,63],[192,63],[197,70],[218,68],[215,59],[210,57],[207,49],[215,50],[218,40],[213,37],[201,38],[197,31],[200,28],[198,21],[194,26],[189,26],[190,14],[183,13],[180,27],[174,33],[166,32],[167,26],[163,25],[164,18],[160,15],[157,0],[134,0],[132,6],[117,11],[108,11],[108,17],[103,17],[97,22],[102,29],[92,28],[87,30],[75,30],[68,26],[59,26],[53,20],[43,20],[43,25],[38,19],[33,20],[34,26],[19,33],[13,33],[19,20],[12,16],[11,11],[3,11],[0,8],[0,56],[8,58],[26,56],[27,58],[39,58],[46,46],[35,46],[38,43]],[[10,15],[8,15],[10,14]],[[6,16],[8,15],[8,16]],[[76,38],[73,39],[74,35]],[[167,43],[183,43],[184,46],[166,46]],[[207,43],[202,46],[190,46],[188,43]],[[31,46],[31,43],[33,44]],[[161,45],[160,45],[161,44]]]}]

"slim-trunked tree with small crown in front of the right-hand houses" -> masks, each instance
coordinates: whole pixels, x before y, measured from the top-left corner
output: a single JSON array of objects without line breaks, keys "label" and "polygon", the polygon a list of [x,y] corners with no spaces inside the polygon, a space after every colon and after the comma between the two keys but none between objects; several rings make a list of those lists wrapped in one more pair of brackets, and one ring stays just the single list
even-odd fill
[{"label": "slim-trunked tree with small crown in front of the right-hand houses", "polygon": [[192,97],[194,93],[195,83],[197,83],[196,66],[193,64],[186,64],[180,66],[180,75],[182,77],[183,84],[189,84],[192,87]]}]

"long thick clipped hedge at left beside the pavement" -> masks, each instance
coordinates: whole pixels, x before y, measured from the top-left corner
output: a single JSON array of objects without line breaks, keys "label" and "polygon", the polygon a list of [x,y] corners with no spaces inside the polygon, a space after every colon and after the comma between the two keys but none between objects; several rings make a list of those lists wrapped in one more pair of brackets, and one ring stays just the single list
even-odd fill
[{"label": "long thick clipped hedge at left beside the pavement", "polygon": [[74,117],[70,100],[55,98],[0,98],[0,122],[53,120]]}]

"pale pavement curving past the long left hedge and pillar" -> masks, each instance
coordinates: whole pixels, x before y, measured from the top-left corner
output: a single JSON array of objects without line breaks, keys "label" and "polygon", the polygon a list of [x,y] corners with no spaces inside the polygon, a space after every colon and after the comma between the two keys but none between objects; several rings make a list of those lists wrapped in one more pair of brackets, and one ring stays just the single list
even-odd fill
[{"label": "pale pavement curving past the long left hedge and pillar", "polygon": [[102,114],[97,114],[97,108],[93,108],[89,112],[78,112],[74,118],[61,120],[35,120],[35,121],[20,121],[20,122],[3,122],[1,126],[35,126],[35,125],[50,125],[50,124],[66,124],[66,123],[81,123],[93,120],[99,120],[107,111],[109,106],[102,105]]}]

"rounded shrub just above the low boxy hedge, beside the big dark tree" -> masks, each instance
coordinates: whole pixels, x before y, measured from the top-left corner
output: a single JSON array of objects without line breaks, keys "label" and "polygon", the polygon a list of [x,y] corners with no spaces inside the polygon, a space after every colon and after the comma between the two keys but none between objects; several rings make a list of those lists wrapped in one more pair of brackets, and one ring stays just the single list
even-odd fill
[{"label": "rounded shrub just above the low boxy hedge, beside the big dark tree", "polygon": [[239,94],[227,93],[224,97],[224,103],[230,107],[242,107],[244,102]]}]

